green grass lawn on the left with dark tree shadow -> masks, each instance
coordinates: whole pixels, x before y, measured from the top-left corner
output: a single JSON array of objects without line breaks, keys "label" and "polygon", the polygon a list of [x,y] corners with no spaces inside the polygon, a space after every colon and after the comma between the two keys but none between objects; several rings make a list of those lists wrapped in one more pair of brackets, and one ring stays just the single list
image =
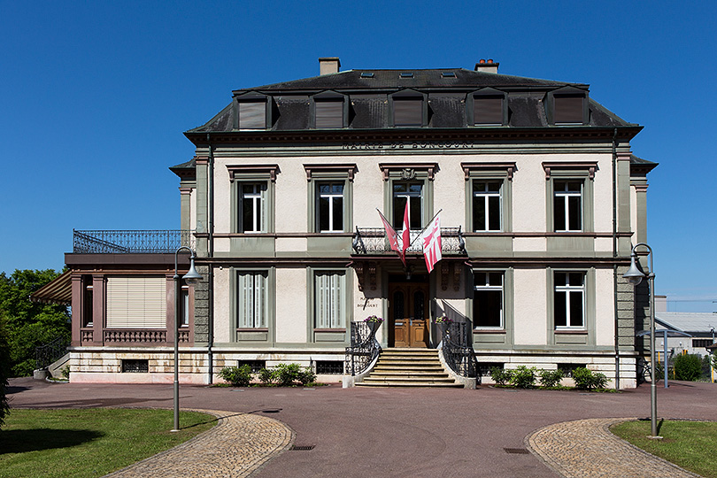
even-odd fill
[{"label": "green grass lawn on the left with dark tree shadow", "polygon": [[212,428],[217,419],[172,410],[13,408],[0,430],[0,478],[103,476]]}]

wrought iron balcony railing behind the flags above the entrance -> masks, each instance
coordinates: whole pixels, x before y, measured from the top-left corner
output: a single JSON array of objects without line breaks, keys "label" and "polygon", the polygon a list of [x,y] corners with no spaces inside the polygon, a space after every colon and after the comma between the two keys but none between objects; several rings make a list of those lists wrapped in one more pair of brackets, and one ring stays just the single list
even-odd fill
[{"label": "wrought iron balcony railing behind the flags above the entrance", "polygon": [[[400,232],[398,244],[401,243]],[[422,254],[423,243],[419,237],[420,230],[411,230],[411,245],[406,250],[408,254]],[[383,254],[391,251],[389,238],[383,227],[356,227],[351,243],[356,254]],[[466,253],[466,242],[463,240],[460,227],[441,227],[441,252],[444,255],[460,255]]]}]

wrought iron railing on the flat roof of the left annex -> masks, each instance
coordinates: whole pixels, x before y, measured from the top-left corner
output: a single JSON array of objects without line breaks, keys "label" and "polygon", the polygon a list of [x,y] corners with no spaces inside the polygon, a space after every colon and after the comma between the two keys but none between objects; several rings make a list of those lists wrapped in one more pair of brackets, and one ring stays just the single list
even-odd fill
[{"label": "wrought iron railing on the flat roof of the left annex", "polygon": [[194,231],[78,231],[73,230],[75,254],[158,254],[181,246],[196,249]]}]

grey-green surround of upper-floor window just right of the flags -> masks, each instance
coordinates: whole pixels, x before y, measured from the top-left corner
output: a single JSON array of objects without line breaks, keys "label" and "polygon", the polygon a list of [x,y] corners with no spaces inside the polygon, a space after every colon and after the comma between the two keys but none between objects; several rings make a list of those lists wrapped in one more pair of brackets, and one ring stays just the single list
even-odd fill
[{"label": "grey-green surround of upper-floor window just right of the flags", "polygon": [[[461,163],[466,180],[466,231],[495,234],[513,231],[513,173],[515,163]],[[500,230],[476,230],[474,225],[474,183],[500,182]]]}]

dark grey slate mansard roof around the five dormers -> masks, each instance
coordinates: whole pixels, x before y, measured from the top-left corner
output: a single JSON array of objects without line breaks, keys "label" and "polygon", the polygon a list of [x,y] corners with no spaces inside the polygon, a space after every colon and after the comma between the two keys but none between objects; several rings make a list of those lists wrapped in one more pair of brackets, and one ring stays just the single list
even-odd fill
[{"label": "dark grey slate mansard roof around the five dormers", "polygon": [[[444,77],[451,72],[455,77]],[[373,78],[361,73],[373,73]],[[400,73],[412,73],[412,78],[402,78]],[[582,83],[538,80],[498,73],[474,72],[464,68],[406,69],[406,70],[347,70],[300,80],[285,81],[250,89],[236,89],[234,96],[268,96],[272,108],[272,124],[269,132],[297,132],[312,130],[312,96],[328,91],[347,96],[350,104],[349,124],[335,131],[388,129],[390,124],[389,96],[402,90],[413,90],[428,97],[428,124],[420,129],[467,128],[467,115],[472,107],[468,99],[474,91],[490,88],[506,94],[508,120],[506,127],[544,128],[553,127],[545,112],[546,95],[558,89],[572,91],[589,90]],[[233,130],[235,102],[228,104],[212,120],[203,126],[190,129],[187,135],[203,133],[247,131]],[[622,120],[589,97],[589,127],[639,126]],[[580,127],[585,127],[580,126]],[[482,127],[484,129],[484,127]],[[323,130],[326,132],[327,130]],[[198,136],[197,136],[198,137]]]}]

